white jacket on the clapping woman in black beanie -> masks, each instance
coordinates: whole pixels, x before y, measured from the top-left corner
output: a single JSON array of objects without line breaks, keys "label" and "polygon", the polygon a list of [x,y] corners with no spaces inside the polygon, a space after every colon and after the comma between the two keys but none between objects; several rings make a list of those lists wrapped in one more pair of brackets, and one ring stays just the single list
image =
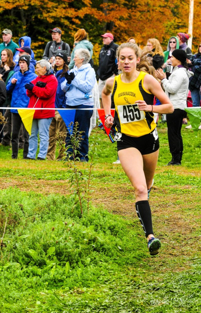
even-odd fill
[{"label": "white jacket on the clapping woman in black beanie", "polygon": [[186,99],[188,95],[189,77],[193,76],[193,72],[184,67],[175,66],[172,74],[167,80],[162,80],[163,88],[166,95],[168,95],[172,102],[174,109],[181,109],[187,107]]}]

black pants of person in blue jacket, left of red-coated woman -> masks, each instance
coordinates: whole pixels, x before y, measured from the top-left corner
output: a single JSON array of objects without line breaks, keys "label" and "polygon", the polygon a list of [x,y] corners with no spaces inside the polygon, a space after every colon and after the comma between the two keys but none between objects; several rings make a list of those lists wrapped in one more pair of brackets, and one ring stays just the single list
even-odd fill
[{"label": "black pants of person in blue jacket, left of red-coated woman", "polygon": [[[20,127],[22,124],[22,119],[18,113],[12,113],[12,158],[15,159],[18,157],[18,149],[19,149],[19,133]],[[29,135],[28,131],[25,129],[23,125],[23,135],[24,135],[24,150],[23,150],[23,158],[27,157],[28,149],[29,149]]]}]

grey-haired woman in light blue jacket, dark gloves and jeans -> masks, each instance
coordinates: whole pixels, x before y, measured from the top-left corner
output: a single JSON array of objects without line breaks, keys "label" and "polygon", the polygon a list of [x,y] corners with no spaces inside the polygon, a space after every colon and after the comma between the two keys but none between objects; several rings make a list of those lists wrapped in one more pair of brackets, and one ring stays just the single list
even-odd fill
[{"label": "grey-haired woman in light blue jacket, dark gloves and jeans", "polygon": [[[88,162],[88,132],[90,118],[93,114],[92,89],[96,81],[95,71],[88,63],[90,58],[87,49],[76,50],[74,56],[75,66],[69,74],[65,73],[66,79],[61,84],[61,89],[66,92],[66,107],[77,109],[73,123],[78,122],[78,131],[84,132],[82,135],[83,140],[80,141],[79,155],[77,155],[81,162]],[[67,136],[66,146],[69,143],[69,136]]]}]

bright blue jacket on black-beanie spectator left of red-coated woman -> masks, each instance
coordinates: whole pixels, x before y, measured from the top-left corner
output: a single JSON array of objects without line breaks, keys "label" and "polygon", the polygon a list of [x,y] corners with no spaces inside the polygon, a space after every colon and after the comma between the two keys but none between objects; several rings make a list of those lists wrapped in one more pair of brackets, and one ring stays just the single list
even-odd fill
[{"label": "bright blue jacket on black-beanie spectator left of red-coated woman", "polygon": [[[29,98],[24,87],[25,84],[36,78],[37,75],[30,70],[22,74],[21,71],[16,72],[8,80],[6,90],[8,93],[12,93],[11,107],[16,108],[27,108],[29,104]],[[13,78],[17,79],[15,84],[11,83]],[[12,113],[18,113],[18,110],[11,110]]]}]

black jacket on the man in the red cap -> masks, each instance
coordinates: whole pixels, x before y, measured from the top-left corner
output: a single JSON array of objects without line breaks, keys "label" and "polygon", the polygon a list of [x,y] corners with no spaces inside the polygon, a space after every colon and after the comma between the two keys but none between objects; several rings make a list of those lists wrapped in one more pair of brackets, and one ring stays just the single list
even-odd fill
[{"label": "black jacket on the man in the red cap", "polygon": [[118,75],[118,65],[116,64],[116,51],[118,44],[111,41],[110,44],[104,44],[99,53],[99,67],[97,74],[101,80],[106,80],[113,74]]}]

